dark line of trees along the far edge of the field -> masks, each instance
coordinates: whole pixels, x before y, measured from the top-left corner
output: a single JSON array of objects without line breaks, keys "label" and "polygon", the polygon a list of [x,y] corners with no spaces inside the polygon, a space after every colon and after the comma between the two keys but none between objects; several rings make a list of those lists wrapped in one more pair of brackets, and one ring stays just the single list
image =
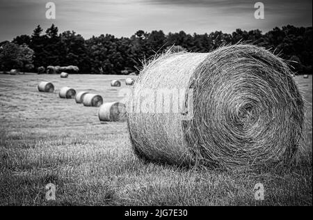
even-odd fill
[{"label": "dark line of trees along the far edge of the field", "polygon": [[[130,38],[106,34],[85,40],[74,31],[58,33],[54,24],[45,32],[38,25],[31,36],[17,36],[0,43],[0,68],[36,70],[49,65],[76,65],[79,73],[129,74],[141,69],[143,61],[169,49],[186,52],[210,52],[222,45],[248,42],[290,61],[298,74],[312,74],[312,27],[275,27],[267,33],[259,30],[233,33],[165,34],[163,31],[137,31]],[[174,46],[173,46],[174,45]]]}]

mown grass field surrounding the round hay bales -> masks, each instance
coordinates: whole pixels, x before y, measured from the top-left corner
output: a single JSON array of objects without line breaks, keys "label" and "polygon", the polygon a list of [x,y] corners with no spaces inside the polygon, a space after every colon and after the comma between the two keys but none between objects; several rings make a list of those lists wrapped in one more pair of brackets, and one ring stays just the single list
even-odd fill
[{"label": "mown grass field surrounding the round hay bales", "polygon": [[[99,123],[97,108],[58,97],[62,86],[120,100],[125,76],[0,74],[0,205],[312,205],[312,111],[308,139],[291,168],[253,171],[152,164],[131,151],[125,123]],[[54,93],[39,93],[39,81]],[[296,77],[312,106],[312,76]],[[122,88],[126,88],[122,81]],[[255,184],[264,201],[255,201]],[[46,184],[56,201],[46,201]]]}]

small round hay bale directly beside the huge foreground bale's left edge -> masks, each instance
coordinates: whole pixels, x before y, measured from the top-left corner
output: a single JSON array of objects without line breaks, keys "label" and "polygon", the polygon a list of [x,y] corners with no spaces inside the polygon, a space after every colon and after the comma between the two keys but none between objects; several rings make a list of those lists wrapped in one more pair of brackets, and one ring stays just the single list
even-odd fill
[{"label": "small round hay bale directly beside the huge foreground bale's left edge", "polygon": [[98,112],[100,121],[126,121],[126,107],[120,102],[108,102],[102,104]]}]

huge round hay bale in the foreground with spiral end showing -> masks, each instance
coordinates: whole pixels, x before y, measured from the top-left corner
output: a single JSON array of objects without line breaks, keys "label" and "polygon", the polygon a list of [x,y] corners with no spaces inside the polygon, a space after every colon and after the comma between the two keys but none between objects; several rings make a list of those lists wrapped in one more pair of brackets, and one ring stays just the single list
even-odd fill
[{"label": "huge round hay bale in the foreground with spiral end showing", "polygon": [[154,162],[284,164],[303,137],[304,103],[291,71],[252,45],[157,58],[141,71],[127,112],[134,152]]}]

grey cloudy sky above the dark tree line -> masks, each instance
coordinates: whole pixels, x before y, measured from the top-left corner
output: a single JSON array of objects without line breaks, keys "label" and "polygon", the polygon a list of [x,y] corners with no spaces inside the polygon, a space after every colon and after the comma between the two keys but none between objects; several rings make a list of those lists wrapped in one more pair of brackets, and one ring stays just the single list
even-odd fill
[{"label": "grey cloudy sky above the dark tree line", "polygon": [[47,2],[0,0],[0,41],[31,34],[38,24],[47,29],[52,23],[85,38],[102,33],[129,37],[140,29],[232,33],[237,28],[312,26],[312,0],[264,0],[265,19],[255,19],[257,1],[247,0],[54,0],[56,19],[46,19]]}]

